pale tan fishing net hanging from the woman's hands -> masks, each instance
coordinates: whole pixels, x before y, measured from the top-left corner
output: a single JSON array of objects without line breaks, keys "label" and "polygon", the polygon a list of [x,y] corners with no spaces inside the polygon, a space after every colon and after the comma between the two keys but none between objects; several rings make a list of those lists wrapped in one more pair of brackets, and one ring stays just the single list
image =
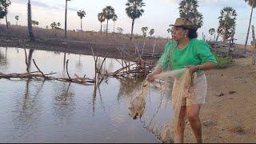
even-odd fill
[{"label": "pale tan fishing net hanging from the woman's hands", "polygon": [[[150,83],[146,80],[142,82],[142,86],[140,86],[137,93],[138,96],[130,102],[130,116],[134,119],[140,118],[140,121],[143,122],[143,127],[154,133],[160,142],[178,142],[177,128],[182,98],[191,95],[193,76],[190,70],[181,69],[166,71],[157,74],[155,77],[159,79],[158,82]],[[168,101],[168,98],[171,98],[171,85],[170,82],[166,82],[170,78],[178,78],[181,82],[177,98],[172,99],[175,100],[172,103]],[[159,83],[160,86],[157,86]],[[150,87],[153,86],[157,86],[158,90],[151,91]],[[150,99],[153,95],[159,97],[159,90],[161,93],[160,98]],[[150,94],[150,97],[147,98],[149,93],[153,94]],[[158,105],[146,106],[146,104],[150,105],[152,103],[158,103]],[[171,104],[172,107],[170,107]]]}]

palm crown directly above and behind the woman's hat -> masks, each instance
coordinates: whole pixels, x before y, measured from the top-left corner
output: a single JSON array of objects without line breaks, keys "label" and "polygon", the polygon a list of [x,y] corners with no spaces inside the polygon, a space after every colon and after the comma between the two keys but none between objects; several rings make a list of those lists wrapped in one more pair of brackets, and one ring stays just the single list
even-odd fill
[{"label": "palm crown directly above and behind the woman's hat", "polygon": [[202,14],[198,12],[197,0],[182,0],[179,4],[180,17],[189,18],[195,26],[202,27]]}]

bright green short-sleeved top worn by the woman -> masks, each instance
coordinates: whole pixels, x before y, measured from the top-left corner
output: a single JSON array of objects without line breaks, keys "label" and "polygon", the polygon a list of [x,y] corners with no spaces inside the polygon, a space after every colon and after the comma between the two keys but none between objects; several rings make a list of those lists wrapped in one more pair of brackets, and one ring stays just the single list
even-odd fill
[{"label": "bright green short-sleeved top worn by the woman", "polygon": [[164,69],[171,66],[172,70],[185,68],[185,66],[197,66],[205,62],[214,62],[216,58],[210,52],[210,47],[205,41],[193,38],[185,48],[179,49],[178,42],[167,42],[165,52],[158,60],[158,65]]}]

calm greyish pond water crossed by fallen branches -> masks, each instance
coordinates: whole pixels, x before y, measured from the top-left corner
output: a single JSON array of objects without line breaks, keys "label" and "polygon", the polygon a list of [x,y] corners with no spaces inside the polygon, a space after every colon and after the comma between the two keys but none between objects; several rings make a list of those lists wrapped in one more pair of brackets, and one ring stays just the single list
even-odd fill
[{"label": "calm greyish pond water crossed by fallen branches", "polygon": [[[66,77],[65,59],[69,59],[70,76],[94,78],[91,56],[63,54],[42,50],[0,48],[0,72],[25,73],[36,70],[32,58],[44,73],[57,72]],[[107,59],[104,69],[120,67],[115,59]],[[158,142],[148,121],[161,100],[159,122],[172,116],[170,96],[160,97],[153,87],[146,100],[142,120],[129,116],[129,104],[138,82],[108,78],[94,95],[94,86],[42,80],[0,79],[0,142]],[[162,99],[161,99],[162,98]]]}]

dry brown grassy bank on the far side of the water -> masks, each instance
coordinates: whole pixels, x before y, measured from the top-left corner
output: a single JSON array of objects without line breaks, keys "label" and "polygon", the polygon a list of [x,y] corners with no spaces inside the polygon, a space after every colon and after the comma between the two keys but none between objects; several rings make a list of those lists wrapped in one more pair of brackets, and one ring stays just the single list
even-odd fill
[{"label": "dry brown grassy bank on the far side of the water", "polygon": [[[42,29],[34,27],[36,42],[30,42],[26,26],[6,26],[0,25],[0,46],[12,46],[21,48],[30,48],[38,50],[62,51],[74,54],[91,54],[91,47],[95,54],[118,58],[118,50],[124,50],[127,54],[134,54],[138,49],[142,52],[144,38],[135,35],[134,40],[130,41],[129,34],[106,33],[86,31],[75,32],[67,31],[68,38],[64,38],[64,30]],[[148,37],[145,39],[145,53],[150,53],[154,49],[154,39]],[[162,52],[167,42],[166,38],[156,38],[155,51]]]}]

